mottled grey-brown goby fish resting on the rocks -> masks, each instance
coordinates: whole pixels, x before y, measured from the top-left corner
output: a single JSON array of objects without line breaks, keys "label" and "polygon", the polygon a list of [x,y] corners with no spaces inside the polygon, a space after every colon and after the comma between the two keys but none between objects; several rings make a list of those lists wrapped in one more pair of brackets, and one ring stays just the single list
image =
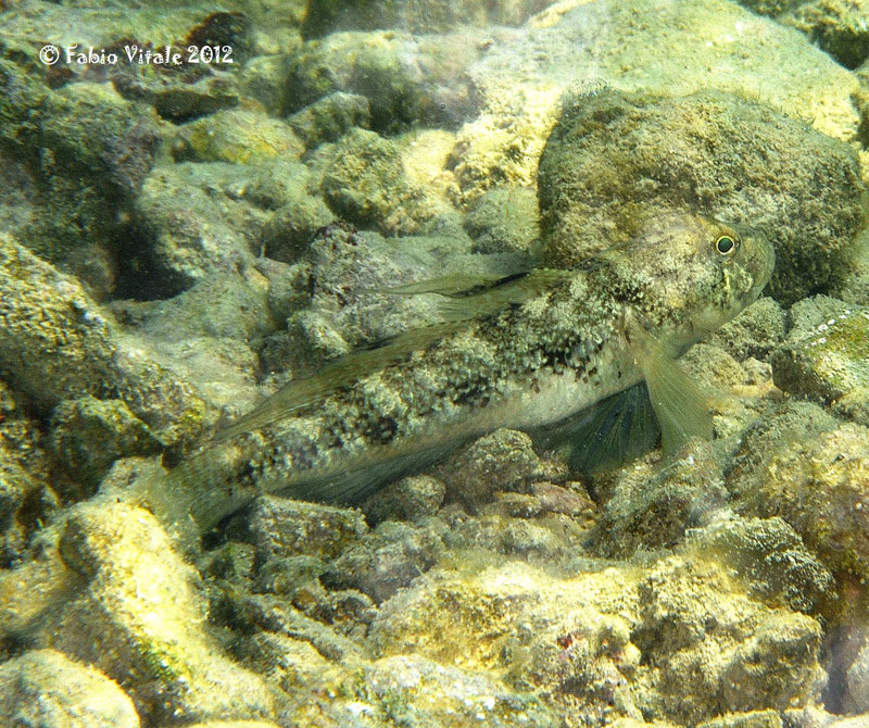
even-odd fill
[{"label": "mottled grey-brown goby fish resting on the rocks", "polygon": [[753,302],[772,265],[767,241],[678,215],[570,271],[449,291],[444,323],[291,382],[161,487],[203,531],[261,493],[358,499],[498,427],[552,425],[643,380],[665,445],[709,435],[672,360]]}]

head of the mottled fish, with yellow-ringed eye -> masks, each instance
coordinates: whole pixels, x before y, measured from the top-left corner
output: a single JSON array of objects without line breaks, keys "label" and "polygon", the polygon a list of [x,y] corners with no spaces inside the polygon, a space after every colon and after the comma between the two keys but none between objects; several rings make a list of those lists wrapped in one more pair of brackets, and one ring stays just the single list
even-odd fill
[{"label": "head of the mottled fish, with yellow-ringed eye", "polygon": [[756,301],[776,260],[763,236],[693,214],[662,216],[603,255],[615,272],[615,297],[678,350]]}]

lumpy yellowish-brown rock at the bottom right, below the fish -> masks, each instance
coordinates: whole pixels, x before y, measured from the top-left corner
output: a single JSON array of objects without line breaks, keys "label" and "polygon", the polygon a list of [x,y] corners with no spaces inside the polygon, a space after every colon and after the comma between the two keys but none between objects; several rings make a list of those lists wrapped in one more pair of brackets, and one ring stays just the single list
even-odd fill
[{"label": "lumpy yellowish-brown rock at the bottom right, below the fish", "polygon": [[[754,602],[727,568],[676,556],[640,580],[633,642],[648,655],[647,685],[659,695],[647,711],[693,723],[709,713],[810,705],[820,693],[818,620]],[[713,645],[715,661],[706,652]]]}]

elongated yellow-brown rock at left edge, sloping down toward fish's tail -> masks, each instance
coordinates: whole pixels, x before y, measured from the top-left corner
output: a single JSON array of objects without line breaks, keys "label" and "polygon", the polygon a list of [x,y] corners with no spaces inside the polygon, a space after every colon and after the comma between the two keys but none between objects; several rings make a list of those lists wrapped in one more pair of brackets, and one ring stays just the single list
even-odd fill
[{"label": "elongated yellow-brown rock at left edge, sloping down toward fish's tail", "polygon": [[48,413],[65,399],[122,399],[163,442],[199,432],[204,403],[189,385],[125,348],[77,280],[0,236],[0,366]]}]

